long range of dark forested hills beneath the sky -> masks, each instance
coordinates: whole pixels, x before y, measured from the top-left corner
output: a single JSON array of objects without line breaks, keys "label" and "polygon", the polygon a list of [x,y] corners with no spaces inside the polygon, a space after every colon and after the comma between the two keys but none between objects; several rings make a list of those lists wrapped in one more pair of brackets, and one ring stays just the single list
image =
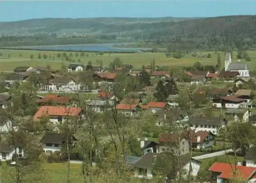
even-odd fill
[{"label": "long range of dark forested hills beneath the sky", "polygon": [[13,46],[143,40],[162,47],[168,45],[169,50],[226,46],[248,49],[256,44],[255,25],[256,16],[252,15],[211,18],[44,18],[0,22],[0,31],[5,35],[0,39],[0,44]]}]

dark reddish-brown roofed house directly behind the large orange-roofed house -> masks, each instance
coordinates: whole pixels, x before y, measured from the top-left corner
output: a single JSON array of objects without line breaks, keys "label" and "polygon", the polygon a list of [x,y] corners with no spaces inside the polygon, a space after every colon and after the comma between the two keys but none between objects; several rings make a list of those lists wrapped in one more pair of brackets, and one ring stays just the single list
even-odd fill
[{"label": "dark reddish-brown roofed house directly behind the large orange-roofed house", "polygon": [[37,100],[39,105],[45,104],[68,104],[70,102],[69,97],[62,97],[60,95],[48,94],[44,98]]}]

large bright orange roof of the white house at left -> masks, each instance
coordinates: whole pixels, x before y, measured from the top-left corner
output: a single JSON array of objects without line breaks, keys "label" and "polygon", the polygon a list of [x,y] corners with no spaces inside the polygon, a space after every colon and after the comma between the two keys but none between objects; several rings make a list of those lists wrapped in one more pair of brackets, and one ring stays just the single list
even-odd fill
[{"label": "large bright orange roof of the white house at left", "polygon": [[81,112],[80,107],[63,106],[41,106],[34,115],[34,120],[48,116],[78,116]]}]

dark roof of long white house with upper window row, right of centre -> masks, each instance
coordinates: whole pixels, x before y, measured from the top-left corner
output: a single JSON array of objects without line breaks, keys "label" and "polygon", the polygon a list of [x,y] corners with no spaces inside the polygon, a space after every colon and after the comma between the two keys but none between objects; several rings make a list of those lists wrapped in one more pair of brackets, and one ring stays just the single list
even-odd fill
[{"label": "dark roof of long white house with upper window row, right of centre", "polygon": [[215,117],[193,117],[189,120],[191,125],[212,125],[217,126],[224,119]]}]

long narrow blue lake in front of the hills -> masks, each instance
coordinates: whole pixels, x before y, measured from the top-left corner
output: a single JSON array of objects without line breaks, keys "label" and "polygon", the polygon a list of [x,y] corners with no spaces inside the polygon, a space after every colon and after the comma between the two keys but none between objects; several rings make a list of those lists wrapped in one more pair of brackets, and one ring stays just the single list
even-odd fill
[{"label": "long narrow blue lake in front of the hills", "polygon": [[148,50],[148,48],[116,48],[117,44],[133,44],[133,43],[102,43],[102,44],[67,44],[67,45],[41,45],[16,47],[18,49],[30,50],[58,50],[58,51],[89,51],[89,52],[139,52]]}]

